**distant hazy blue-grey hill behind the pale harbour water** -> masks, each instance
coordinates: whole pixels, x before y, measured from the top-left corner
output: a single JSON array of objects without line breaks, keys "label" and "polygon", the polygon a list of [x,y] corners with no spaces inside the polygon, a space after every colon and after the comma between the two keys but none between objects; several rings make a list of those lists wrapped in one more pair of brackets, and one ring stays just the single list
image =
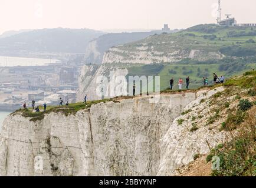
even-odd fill
[{"label": "distant hazy blue-grey hill behind the pale harbour water", "polygon": [[91,29],[37,29],[0,38],[0,52],[84,53],[88,42],[103,34]]}]

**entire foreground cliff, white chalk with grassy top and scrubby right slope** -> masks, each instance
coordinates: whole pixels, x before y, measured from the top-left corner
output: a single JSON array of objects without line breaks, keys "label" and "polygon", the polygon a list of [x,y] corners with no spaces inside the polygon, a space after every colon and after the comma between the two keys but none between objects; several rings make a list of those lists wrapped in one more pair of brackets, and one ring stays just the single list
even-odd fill
[{"label": "entire foreground cliff, white chalk with grassy top and scrubby right slope", "polygon": [[255,89],[254,71],[163,91],[158,102],[150,95],[17,110],[1,130],[0,175],[255,176]]}]

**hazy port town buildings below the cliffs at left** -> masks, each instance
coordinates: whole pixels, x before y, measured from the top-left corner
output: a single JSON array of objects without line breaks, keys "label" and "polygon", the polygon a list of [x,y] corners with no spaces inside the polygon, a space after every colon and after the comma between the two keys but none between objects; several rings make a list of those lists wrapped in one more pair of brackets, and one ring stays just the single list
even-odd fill
[{"label": "hazy port town buildings below the cliffs at left", "polygon": [[74,57],[42,66],[0,66],[0,110],[14,111],[32,100],[39,106],[56,105],[60,98],[75,102],[81,66]]}]

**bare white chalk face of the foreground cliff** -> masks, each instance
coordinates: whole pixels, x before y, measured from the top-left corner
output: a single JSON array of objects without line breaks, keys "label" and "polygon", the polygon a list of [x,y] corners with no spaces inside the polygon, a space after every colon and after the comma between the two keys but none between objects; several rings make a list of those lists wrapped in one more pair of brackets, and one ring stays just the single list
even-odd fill
[{"label": "bare white chalk face of the foreground cliff", "polygon": [[177,124],[181,112],[204,109],[201,99],[221,90],[99,103],[37,122],[16,112],[1,130],[0,176],[172,176],[195,153],[209,152],[205,140],[224,139],[203,125],[189,132],[191,124]]}]

